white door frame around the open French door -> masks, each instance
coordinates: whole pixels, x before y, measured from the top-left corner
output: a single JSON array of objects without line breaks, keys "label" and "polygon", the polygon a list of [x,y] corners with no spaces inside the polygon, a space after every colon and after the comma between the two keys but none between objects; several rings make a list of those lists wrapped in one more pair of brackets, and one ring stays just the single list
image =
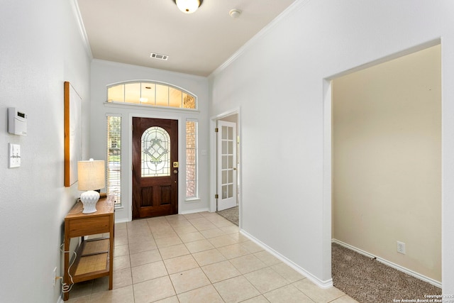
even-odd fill
[{"label": "white door frame around the open French door", "polygon": [[[238,184],[238,192],[237,192],[237,197],[238,197],[238,225],[239,228],[242,226],[242,214],[243,214],[243,177],[242,177],[242,152],[241,152],[241,138],[242,138],[242,133],[241,133],[241,113],[240,113],[240,107],[236,109],[231,109],[229,111],[225,111],[222,114],[218,114],[217,116],[212,116],[210,118],[210,202],[209,202],[209,209],[211,212],[216,211],[216,198],[214,195],[216,194],[217,190],[217,153],[216,153],[216,133],[214,132],[214,128],[216,128],[218,120],[221,120],[223,118],[226,118],[227,116],[232,116],[234,114],[238,115],[238,121],[236,122],[236,133],[237,136],[240,138],[240,144],[238,144],[237,148],[237,153],[238,153],[238,158],[239,158],[239,165],[237,166],[237,184]],[[238,161],[238,159],[237,159]]]}]

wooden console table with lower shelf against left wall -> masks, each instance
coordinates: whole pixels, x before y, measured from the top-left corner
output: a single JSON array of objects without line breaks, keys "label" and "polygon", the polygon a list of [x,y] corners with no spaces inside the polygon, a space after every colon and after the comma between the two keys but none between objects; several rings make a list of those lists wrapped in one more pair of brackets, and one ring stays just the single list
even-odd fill
[{"label": "wooden console table with lower shelf against left wall", "polygon": [[[96,212],[83,214],[82,202],[78,201],[65,217],[65,275],[63,282],[82,282],[98,277],[109,276],[109,290],[112,289],[114,270],[114,197],[101,197],[96,204]],[[109,233],[109,238],[85,240],[84,236]],[[77,248],[77,257],[70,268],[71,238],[82,237]],[[70,268],[70,274],[68,274]],[[72,276],[72,280],[71,277]],[[69,292],[63,293],[63,299],[70,298]]]}]

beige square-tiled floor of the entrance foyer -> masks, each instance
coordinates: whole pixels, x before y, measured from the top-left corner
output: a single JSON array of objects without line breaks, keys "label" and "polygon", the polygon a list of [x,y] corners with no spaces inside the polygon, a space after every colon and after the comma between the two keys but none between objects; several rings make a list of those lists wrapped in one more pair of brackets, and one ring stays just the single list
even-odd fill
[{"label": "beige square-tiled floor of the entrance foyer", "polygon": [[78,283],[67,302],[356,302],[317,287],[216,213],[115,228],[114,290],[107,277]]}]

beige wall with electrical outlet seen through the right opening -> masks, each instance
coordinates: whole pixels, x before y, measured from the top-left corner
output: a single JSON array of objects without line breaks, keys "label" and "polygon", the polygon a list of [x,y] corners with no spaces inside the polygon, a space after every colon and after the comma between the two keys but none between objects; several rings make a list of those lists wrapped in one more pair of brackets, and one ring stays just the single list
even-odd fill
[{"label": "beige wall with electrical outlet seen through the right opening", "polygon": [[333,238],[437,282],[440,50],[333,80]]}]

